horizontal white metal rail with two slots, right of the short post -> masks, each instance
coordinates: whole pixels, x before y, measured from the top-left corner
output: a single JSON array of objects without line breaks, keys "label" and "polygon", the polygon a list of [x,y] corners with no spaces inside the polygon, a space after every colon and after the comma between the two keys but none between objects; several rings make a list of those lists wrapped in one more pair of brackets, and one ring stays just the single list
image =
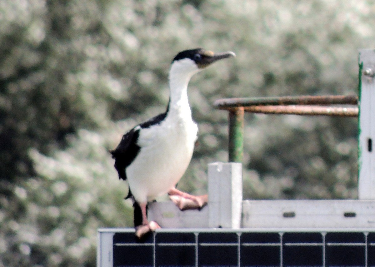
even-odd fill
[{"label": "horizontal white metal rail with two slots, right of the short post", "polygon": [[245,200],[242,209],[242,228],[375,227],[372,200]]}]

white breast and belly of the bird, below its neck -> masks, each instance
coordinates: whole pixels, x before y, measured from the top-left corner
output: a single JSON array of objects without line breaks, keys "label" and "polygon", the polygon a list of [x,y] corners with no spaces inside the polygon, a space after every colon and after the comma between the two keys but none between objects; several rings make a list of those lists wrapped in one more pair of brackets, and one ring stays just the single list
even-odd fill
[{"label": "white breast and belly of the bird, below its neck", "polygon": [[137,201],[151,201],[175,186],[190,163],[197,132],[190,116],[175,115],[140,130],[137,144],[141,150],[126,169]]}]

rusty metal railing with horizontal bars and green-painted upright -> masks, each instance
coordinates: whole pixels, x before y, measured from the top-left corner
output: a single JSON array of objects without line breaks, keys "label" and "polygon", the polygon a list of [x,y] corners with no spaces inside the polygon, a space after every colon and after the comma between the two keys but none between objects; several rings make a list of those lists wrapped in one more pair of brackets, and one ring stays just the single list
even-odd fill
[{"label": "rusty metal railing with horizontal bars and green-painted upright", "polygon": [[[353,105],[355,107],[351,107]],[[243,159],[245,111],[265,114],[358,116],[358,97],[354,95],[225,98],[216,100],[213,106],[229,111],[229,162],[242,162]]]}]

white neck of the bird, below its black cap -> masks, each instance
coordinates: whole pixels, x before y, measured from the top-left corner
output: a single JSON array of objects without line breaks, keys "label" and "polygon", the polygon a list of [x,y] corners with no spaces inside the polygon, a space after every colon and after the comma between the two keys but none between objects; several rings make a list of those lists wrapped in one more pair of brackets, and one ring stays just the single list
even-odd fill
[{"label": "white neck of the bird, below its black cap", "polygon": [[169,71],[169,114],[191,117],[191,110],[187,99],[187,85],[190,78],[199,72],[190,59],[174,62]]}]

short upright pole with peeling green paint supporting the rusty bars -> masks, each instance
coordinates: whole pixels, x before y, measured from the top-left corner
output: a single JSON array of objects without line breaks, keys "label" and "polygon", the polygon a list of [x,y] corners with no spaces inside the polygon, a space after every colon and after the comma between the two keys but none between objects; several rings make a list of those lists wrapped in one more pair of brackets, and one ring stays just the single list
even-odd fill
[{"label": "short upright pole with peeling green paint supporting the rusty bars", "polygon": [[243,107],[229,111],[229,162],[242,163],[244,113]]}]

